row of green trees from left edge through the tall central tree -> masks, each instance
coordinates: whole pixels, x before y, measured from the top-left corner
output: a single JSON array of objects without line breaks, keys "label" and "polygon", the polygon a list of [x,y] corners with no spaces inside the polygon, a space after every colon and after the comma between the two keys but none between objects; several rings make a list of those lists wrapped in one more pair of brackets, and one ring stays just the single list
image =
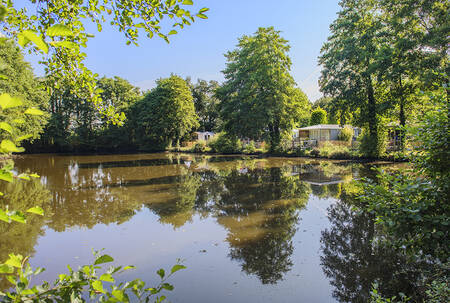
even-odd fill
[{"label": "row of green trees from left edge through the tall central tree", "polygon": [[[35,78],[19,48],[7,41],[1,45],[2,58],[14,76],[2,85],[46,112],[23,130],[34,140],[26,146],[29,151],[164,150],[192,139],[196,130],[265,140],[274,151],[283,136],[310,117],[310,102],[289,73],[288,51],[280,32],[259,28],[226,54],[222,85],[172,75],[141,92],[122,78],[104,77],[95,85],[104,107],[99,110],[90,90],[74,89],[65,79],[55,85],[52,78]],[[111,123],[108,108],[121,113],[118,120],[126,116],[125,122]]]}]

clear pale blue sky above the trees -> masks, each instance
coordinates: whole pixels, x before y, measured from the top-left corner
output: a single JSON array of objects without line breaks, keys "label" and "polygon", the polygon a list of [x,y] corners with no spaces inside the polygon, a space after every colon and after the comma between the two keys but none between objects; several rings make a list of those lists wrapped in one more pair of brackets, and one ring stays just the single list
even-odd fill
[{"label": "clear pale blue sky above the trees", "polygon": [[[191,76],[223,81],[224,53],[235,48],[242,35],[258,27],[274,26],[289,40],[291,74],[311,101],[321,96],[317,80],[317,57],[329,35],[329,25],[339,10],[338,0],[194,0],[193,8],[208,7],[209,19],[171,36],[170,44],[160,38],[139,40],[139,47],[125,45],[121,33],[104,26],[95,31],[86,49],[87,66],[99,75],[120,76],[142,89],[155,86],[155,80],[170,76]],[[32,60],[35,61],[35,60]],[[41,68],[35,64],[39,74]]]}]

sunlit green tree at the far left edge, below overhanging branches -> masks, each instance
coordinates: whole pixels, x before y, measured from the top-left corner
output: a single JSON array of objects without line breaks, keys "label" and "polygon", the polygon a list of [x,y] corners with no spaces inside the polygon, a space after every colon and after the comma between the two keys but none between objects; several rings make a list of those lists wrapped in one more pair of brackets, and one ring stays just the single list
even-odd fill
[{"label": "sunlit green tree at the far left edge, below overhanging branches", "polygon": [[[45,109],[48,94],[42,88],[30,67],[24,61],[23,54],[14,41],[0,38],[0,71],[4,75],[0,80],[0,91],[20,98],[23,105],[37,109]],[[0,111],[0,121],[15,124],[17,137],[28,135],[31,140],[39,138],[47,123],[48,115],[26,116],[19,108]],[[4,136],[0,136],[4,139]]]}]

